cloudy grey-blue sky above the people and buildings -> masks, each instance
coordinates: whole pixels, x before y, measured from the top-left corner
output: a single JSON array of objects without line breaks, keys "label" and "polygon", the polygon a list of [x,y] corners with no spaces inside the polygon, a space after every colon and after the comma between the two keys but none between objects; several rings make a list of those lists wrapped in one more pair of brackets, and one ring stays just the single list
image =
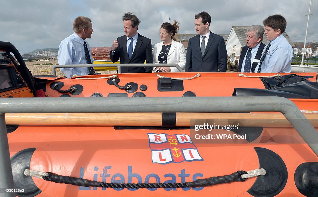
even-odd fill
[{"label": "cloudy grey-blue sky above the people and buildings", "polygon": [[[307,42],[318,42],[318,0],[312,0]],[[90,46],[111,46],[124,35],[122,15],[134,12],[141,20],[138,32],[160,42],[160,25],[177,20],[179,33],[196,33],[194,16],[207,11],[210,30],[229,34],[232,26],[263,25],[265,18],[281,14],[287,20],[286,32],[293,42],[304,42],[309,0],[0,0],[1,41],[11,42],[20,53],[38,48],[58,48],[73,33],[77,16],[92,19]]]}]

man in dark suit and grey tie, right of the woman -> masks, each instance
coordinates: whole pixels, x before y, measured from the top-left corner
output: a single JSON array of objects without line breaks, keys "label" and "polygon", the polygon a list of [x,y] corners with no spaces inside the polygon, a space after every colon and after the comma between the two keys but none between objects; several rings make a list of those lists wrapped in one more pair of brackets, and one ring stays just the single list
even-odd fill
[{"label": "man in dark suit and grey tie, right of the woman", "polygon": [[210,32],[211,16],[197,14],[194,20],[195,37],[189,39],[186,72],[226,72],[227,52],[222,36]]}]

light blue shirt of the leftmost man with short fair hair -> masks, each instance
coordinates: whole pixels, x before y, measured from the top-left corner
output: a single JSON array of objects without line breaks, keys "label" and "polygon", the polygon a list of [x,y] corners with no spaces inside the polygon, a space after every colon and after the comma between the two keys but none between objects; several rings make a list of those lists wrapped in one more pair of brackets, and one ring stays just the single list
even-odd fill
[{"label": "light blue shirt of the leftmost man with short fair hair", "polygon": [[[91,48],[89,47],[88,42],[86,45],[93,63],[93,57]],[[59,54],[58,54],[59,65],[64,64],[87,64],[84,51],[84,40],[80,38],[76,33],[73,33],[66,39],[61,41],[59,45]],[[71,78],[74,74],[78,76],[87,75],[87,67],[69,67],[69,68],[60,68],[61,72],[65,74],[67,78]]]}]

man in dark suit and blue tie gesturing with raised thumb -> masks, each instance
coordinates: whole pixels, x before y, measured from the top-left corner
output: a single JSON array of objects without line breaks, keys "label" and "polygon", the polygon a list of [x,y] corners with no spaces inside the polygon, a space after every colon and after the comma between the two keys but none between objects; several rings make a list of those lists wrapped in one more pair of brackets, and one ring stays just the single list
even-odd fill
[{"label": "man in dark suit and blue tie gesturing with raised thumb", "polygon": [[[151,40],[140,35],[138,25],[140,20],[133,13],[122,16],[125,35],[114,40],[110,59],[121,64],[152,64]],[[152,67],[121,67],[121,73],[151,73]]]}]

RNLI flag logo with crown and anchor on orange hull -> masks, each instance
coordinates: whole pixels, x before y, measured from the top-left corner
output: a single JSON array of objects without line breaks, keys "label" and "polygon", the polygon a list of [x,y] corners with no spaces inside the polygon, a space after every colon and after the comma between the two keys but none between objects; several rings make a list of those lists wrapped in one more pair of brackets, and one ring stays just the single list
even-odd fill
[{"label": "RNLI flag logo with crown and anchor on orange hull", "polygon": [[186,134],[148,133],[148,137],[153,163],[168,164],[171,162],[203,161],[197,147],[192,143],[190,136]]}]

